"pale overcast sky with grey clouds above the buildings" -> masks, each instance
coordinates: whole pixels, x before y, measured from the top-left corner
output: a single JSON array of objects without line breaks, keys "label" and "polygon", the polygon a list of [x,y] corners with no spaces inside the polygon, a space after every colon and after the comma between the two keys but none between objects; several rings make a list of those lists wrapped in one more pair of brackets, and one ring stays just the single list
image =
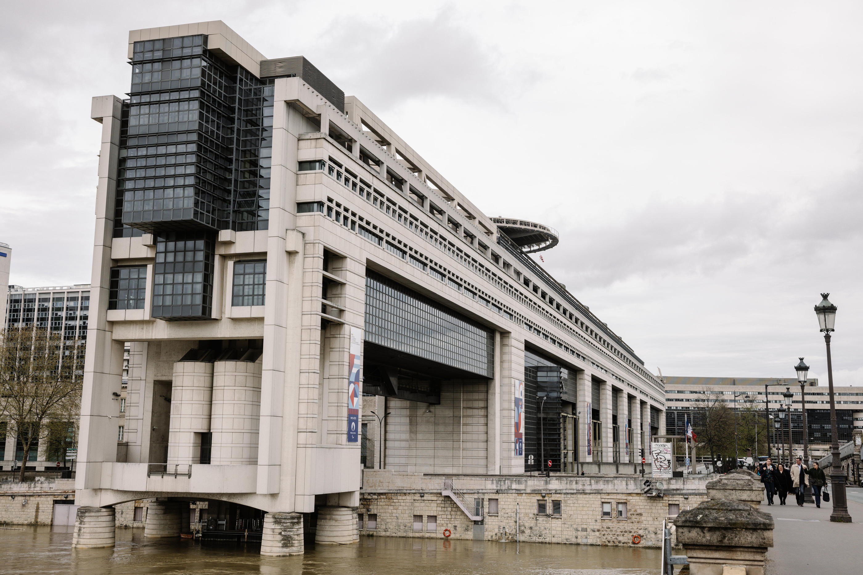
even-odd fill
[{"label": "pale overcast sky with grey clouds above the buildings", "polygon": [[99,126],[128,30],[224,20],[304,55],[665,375],[863,384],[863,4],[9,2],[0,241],[10,282],[90,281]]}]

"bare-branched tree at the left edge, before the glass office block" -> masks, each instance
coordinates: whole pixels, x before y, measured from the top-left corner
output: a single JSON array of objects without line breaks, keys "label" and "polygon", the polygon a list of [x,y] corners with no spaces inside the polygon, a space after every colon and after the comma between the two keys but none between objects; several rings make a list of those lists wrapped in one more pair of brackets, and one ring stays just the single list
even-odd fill
[{"label": "bare-branched tree at the left edge, before the glass office block", "polygon": [[15,428],[23,448],[19,480],[30,450],[57,422],[74,421],[81,398],[84,360],[60,332],[11,328],[0,334],[0,414]]}]

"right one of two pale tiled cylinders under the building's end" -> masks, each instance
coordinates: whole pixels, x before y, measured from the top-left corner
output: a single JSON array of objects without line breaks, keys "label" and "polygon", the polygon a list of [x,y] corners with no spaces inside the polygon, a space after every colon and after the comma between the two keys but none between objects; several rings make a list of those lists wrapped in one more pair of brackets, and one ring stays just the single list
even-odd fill
[{"label": "right one of two pale tiled cylinders under the building's end", "polygon": [[261,363],[217,361],[213,365],[210,463],[257,465],[260,427]]}]

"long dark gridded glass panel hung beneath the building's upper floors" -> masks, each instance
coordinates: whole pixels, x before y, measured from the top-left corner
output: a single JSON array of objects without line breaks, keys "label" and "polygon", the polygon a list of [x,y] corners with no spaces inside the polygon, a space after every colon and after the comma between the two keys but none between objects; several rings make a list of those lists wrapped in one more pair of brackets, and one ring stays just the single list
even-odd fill
[{"label": "long dark gridded glass panel hung beneath the building's upper floors", "polygon": [[494,332],[375,272],[366,275],[365,339],[484,378],[494,377]]}]

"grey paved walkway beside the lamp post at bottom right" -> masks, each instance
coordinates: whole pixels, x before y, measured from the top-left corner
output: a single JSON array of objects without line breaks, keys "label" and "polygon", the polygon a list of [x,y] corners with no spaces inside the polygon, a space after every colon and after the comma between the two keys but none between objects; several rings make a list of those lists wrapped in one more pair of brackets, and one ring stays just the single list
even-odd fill
[{"label": "grey paved walkway beside the lamp post at bottom right", "polygon": [[829,572],[835,575],[860,573],[860,543],[863,542],[863,497],[860,488],[848,489],[848,513],[854,523],[830,522],[833,504],[805,503],[798,507],[789,494],[788,504],[759,509],[772,514],[773,547],[767,550],[765,575]]}]

